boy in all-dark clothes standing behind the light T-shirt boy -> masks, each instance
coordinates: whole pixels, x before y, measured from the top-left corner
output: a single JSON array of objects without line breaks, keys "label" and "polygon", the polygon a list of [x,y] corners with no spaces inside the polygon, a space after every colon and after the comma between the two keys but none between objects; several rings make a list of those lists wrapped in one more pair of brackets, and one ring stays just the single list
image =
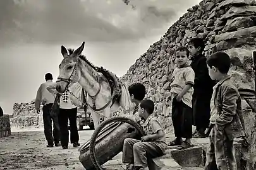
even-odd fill
[{"label": "boy in all-dark clothes standing behind the light T-shirt boy", "polygon": [[212,79],[208,74],[206,58],[202,55],[204,51],[204,40],[193,38],[188,43],[190,55],[192,56],[191,67],[195,72],[195,84],[193,86],[193,125],[196,130],[194,137],[205,137],[205,130],[209,127],[210,98],[212,97]]}]

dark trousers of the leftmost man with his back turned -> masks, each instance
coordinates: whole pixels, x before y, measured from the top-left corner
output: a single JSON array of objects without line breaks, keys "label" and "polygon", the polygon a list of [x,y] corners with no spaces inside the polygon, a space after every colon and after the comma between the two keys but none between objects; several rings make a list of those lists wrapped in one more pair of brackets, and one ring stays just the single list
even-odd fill
[{"label": "dark trousers of the leftmost man with his back turned", "polygon": [[[44,135],[48,145],[53,145],[59,143],[59,123],[58,116],[51,113],[52,104],[43,106],[43,120],[44,120]],[[53,137],[52,137],[52,122],[53,122]]]}]

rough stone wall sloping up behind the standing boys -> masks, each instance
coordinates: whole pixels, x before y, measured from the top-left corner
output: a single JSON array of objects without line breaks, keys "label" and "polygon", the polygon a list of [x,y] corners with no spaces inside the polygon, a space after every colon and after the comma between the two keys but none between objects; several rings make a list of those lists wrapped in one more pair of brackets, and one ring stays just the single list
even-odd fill
[{"label": "rough stone wall sloping up behind the standing boys", "polygon": [[[147,98],[155,101],[155,115],[167,132],[171,131],[171,108],[166,100],[170,91],[174,51],[187,45],[194,37],[205,38],[204,54],[226,52],[231,57],[231,79],[237,88],[254,89],[252,50],[256,50],[255,0],[204,0],[188,9],[147,52],[131,65],[121,77],[123,81],[142,82],[147,88]],[[255,101],[255,99],[253,99]],[[243,166],[256,169],[256,113],[243,101],[246,139],[243,147]]]}]

